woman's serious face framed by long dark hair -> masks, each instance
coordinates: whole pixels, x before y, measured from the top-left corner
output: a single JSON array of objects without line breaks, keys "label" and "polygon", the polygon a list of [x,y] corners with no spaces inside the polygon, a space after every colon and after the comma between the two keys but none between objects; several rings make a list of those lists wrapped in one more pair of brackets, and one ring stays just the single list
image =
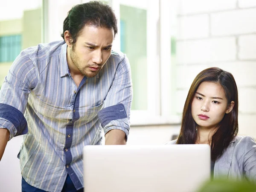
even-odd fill
[{"label": "woman's serious face framed by long dark hair", "polygon": [[220,84],[204,81],[196,90],[192,100],[192,117],[198,125],[197,128],[216,128],[225,113],[230,113],[234,102],[227,102],[224,89]]}]

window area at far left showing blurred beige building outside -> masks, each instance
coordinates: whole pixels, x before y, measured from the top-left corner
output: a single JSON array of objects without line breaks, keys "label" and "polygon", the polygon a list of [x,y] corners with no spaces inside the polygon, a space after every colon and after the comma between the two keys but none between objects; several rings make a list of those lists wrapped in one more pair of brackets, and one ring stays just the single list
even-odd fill
[{"label": "window area at far left showing blurred beige building outside", "polygon": [[41,3],[8,0],[0,6],[0,87],[21,49],[41,43]]}]

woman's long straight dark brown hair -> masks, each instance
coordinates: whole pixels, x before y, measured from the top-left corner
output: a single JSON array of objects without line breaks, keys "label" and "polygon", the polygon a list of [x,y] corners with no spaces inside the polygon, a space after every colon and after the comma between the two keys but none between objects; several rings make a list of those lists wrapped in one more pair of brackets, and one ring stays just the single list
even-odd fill
[{"label": "woman's long straight dark brown hair", "polygon": [[230,145],[230,142],[238,133],[238,91],[233,75],[227,71],[221,70],[218,67],[211,67],[201,71],[195,77],[183,108],[181,129],[177,144],[195,144],[197,140],[197,124],[192,117],[191,104],[196,90],[204,81],[220,84],[223,87],[228,104],[231,101],[235,102],[233,110],[224,115],[224,118],[219,122],[218,129],[212,135],[211,159],[215,161],[221,157],[224,150]]}]

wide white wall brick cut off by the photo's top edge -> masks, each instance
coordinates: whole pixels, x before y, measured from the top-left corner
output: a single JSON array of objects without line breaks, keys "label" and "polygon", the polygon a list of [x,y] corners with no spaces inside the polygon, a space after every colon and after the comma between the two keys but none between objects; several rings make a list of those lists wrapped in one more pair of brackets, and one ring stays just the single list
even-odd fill
[{"label": "wide white wall brick cut off by the photo's top edge", "polygon": [[180,15],[235,9],[236,0],[179,0]]}]

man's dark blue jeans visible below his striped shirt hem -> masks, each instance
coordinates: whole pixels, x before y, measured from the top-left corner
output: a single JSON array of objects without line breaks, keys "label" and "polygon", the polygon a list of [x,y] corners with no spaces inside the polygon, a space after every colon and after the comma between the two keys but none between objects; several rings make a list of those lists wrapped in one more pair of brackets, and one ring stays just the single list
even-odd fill
[{"label": "man's dark blue jeans visible below his striped shirt hem", "polygon": [[[21,191],[22,192],[46,192],[42,189],[38,189],[38,188],[35,188],[31,185],[29,185],[29,183],[27,183],[23,177],[22,177],[22,181],[21,181]],[[83,192],[84,189],[79,189],[78,191],[76,190],[71,178],[69,175],[67,175],[67,179],[64,183],[64,186],[63,186],[63,189],[61,192]]]}]

